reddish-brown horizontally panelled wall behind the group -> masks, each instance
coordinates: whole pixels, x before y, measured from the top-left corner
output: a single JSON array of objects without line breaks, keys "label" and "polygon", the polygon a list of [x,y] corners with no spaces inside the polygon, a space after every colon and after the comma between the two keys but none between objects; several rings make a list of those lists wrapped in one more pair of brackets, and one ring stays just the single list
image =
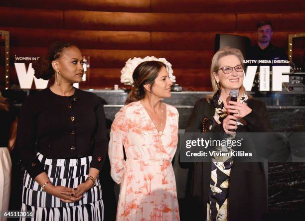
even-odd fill
[{"label": "reddish-brown horizontally panelled wall behind the group", "polygon": [[[273,44],[287,48],[288,34],[305,31],[304,0],[6,0],[0,30],[10,32],[10,54],[41,56],[56,40],[78,45],[90,56],[90,82],[113,87],[130,57],[165,57],[177,83],[209,91],[216,33],[248,36],[256,23],[274,24]],[[0,63],[0,85],[4,84]],[[16,83],[10,76],[10,83]],[[120,86],[123,86],[120,84]]]}]

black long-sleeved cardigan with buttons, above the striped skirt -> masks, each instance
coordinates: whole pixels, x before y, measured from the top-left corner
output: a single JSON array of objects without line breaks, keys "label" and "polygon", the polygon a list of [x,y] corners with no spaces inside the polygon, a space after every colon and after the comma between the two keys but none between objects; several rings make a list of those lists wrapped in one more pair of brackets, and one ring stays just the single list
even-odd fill
[{"label": "black long-sleeved cardigan with buttons, above the striped skirt", "polygon": [[101,170],[107,146],[103,105],[93,93],[75,89],[73,96],[64,97],[47,88],[29,95],[22,105],[17,148],[32,178],[44,172],[36,152],[48,159],[92,156],[90,167]]}]

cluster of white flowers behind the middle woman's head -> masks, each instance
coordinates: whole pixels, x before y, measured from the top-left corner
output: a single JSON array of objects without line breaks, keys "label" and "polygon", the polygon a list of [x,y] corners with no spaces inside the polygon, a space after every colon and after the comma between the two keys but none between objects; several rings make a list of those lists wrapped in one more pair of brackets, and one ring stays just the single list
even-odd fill
[{"label": "cluster of white flowers behind the middle woman's head", "polygon": [[168,72],[168,77],[171,82],[176,82],[176,77],[172,75],[173,70],[171,68],[171,64],[166,61],[165,58],[156,58],[154,56],[146,56],[145,58],[130,58],[126,62],[124,68],[121,70],[121,83],[125,85],[133,85],[134,79],[133,79],[133,73],[136,67],[138,67],[139,64],[145,61],[160,61],[166,66],[166,70]]}]

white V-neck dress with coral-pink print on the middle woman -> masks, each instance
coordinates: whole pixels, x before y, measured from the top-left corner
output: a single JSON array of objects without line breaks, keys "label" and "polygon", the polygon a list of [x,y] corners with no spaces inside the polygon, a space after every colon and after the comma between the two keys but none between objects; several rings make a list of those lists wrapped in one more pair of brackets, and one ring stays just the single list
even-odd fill
[{"label": "white V-neck dress with coral-pink print on the middle woman", "polygon": [[178,142],[178,117],[178,111],[166,105],[165,128],[158,132],[140,101],[116,114],[108,151],[111,176],[121,186],[117,221],[179,220],[171,165]]}]

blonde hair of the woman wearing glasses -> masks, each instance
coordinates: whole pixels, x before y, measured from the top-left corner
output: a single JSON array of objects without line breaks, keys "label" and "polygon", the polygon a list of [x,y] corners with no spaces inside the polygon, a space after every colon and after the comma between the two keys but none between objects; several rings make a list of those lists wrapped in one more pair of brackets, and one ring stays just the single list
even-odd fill
[{"label": "blonde hair of the woman wearing glasses", "polygon": [[[213,94],[212,95],[208,95],[207,98],[212,98],[213,95],[217,92],[218,87],[217,87],[217,83],[216,80],[214,78],[214,72],[217,73],[219,67],[219,60],[225,56],[229,56],[229,55],[234,55],[238,58],[238,60],[240,61],[241,64],[244,64],[244,56],[242,54],[242,52],[237,49],[237,48],[230,48],[230,47],[224,47],[219,49],[213,56],[212,58],[212,64],[211,64],[211,68],[210,68],[210,77],[211,77],[211,83],[212,83],[212,87],[213,87]],[[240,88],[241,91],[246,91],[245,87],[242,85]],[[250,95],[249,95],[250,96]]]}]

